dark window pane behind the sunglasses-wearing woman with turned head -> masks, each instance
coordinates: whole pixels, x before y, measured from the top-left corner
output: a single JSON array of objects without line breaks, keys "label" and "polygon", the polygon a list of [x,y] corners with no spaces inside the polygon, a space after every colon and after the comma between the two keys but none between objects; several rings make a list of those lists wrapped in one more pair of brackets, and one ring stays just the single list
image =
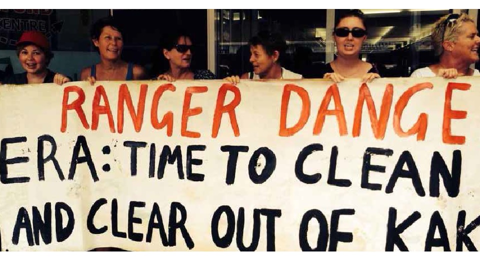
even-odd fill
[{"label": "dark window pane behind the sunglasses-wearing woman with turned head", "polygon": [[179,29],[193,42],[191,68],[207,68],[205,9],[113,9],[113,17],[124,31],[123,59],[145,66],[150,77],[165,71],[158,48],[161,38]]}]

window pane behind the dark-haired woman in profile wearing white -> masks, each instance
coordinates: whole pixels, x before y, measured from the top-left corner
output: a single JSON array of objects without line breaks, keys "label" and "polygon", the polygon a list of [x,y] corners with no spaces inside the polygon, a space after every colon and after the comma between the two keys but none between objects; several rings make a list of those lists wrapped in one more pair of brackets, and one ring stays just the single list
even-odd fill
[{"label": "window pane behind the dark-haired woman in profile wearing white", "polygon": [[326,9],[216,9],[215,22],[219,78],[252,70],[248,40],[262,30],[283,35],[282,66],[293,72],[325,61]]}]

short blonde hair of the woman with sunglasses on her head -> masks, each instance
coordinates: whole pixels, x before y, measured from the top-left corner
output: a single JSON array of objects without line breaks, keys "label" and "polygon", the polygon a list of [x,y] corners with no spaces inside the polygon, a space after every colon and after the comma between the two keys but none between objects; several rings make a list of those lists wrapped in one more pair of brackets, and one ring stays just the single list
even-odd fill
[{"label": "short blonde hair of the woman with sunglasses on her head", "polygon": [[453,21],[453,23],[449,23],[446,21],[446,19],[450,15],[451,14],[446,14],[439,18],[435,22],[433,30],[431,31],[431,42],[435,51],[435,56],[439,56],[443,53],[443,41],[456,40],[460,34],[459,28],[464,22],[469,21],[475,23],[475,21],[465,13],[460,13],[460,16]]}]

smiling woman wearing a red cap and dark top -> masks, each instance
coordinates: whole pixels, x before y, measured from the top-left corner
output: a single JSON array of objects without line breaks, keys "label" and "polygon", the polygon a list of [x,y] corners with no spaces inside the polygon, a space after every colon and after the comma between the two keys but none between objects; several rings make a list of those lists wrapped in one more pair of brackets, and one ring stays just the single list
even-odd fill
[{"label": "smiling woman wearing a red cap and dark top", "polygon": [[54,82],[61,85],[71,79],[63,74],[52,72],[47,68],[53,53],[50,44],[39,31],[25,31],[16,43],[16,55],[20,60],[23,73],[7,77],[3,83],[27,84]]}]

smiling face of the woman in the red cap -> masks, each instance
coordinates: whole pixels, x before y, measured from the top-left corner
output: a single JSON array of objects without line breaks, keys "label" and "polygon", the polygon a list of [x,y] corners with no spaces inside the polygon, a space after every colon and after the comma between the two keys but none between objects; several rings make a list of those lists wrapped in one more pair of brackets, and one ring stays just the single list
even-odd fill
[{"label": "smiling face of the woman in the red cap", "polygon": [[39,74],[46,69],[47,59],[45,52],[37,45],[26,45],[18,53],[21,67],[27,73]]}]

